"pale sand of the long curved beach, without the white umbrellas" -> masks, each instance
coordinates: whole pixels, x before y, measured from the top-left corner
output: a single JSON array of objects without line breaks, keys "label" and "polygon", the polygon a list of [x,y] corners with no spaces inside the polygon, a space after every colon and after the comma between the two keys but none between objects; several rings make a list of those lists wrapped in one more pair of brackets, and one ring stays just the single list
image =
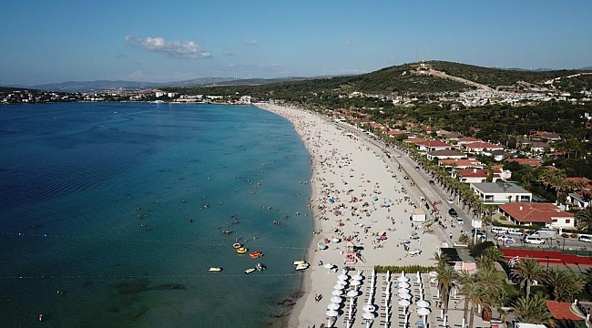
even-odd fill
[{"label": "pale sand of the long curved beach, without the white umbrellas", "polygon": [[[305,271],[304,295],[291,313],[289,327],[328,324],[327,306],[335,296],[332,293],[339,293],[334,292],[333,285],[346,266],[352,269],[345,272],[350,277],[356,273],[364,277],[361,286],[353,287],[349,284],[353,282],[351,280],[347,284],[349,287],[343,289],[344,293],[360,291],[353,307],[357,304],[360,308],[362,302],[383,304],[387,297],[386,302],[396,302],[381,288],[377,289],[376,282],[371,283],[373,266],[434,265],[434,251],[441,244],[434,234],[424,231],[422,222],[411,220],[413,209],[421,201],[420,193],[413,191],[410,180],[403,179],[404,173],[399,172],[396,161],[332,121],[297,108],[268,103],[256,106],[289,119],[311,154],[310,206],[314,215],[314,231],[311,231],[314,238],[308,258],[304,259],[311,263],[311,267]],[[362,249],[361,258],[355,259],[355,263],[345,263],[347,241]],[[328,248],[320,250],[319,243]],[[421,253],[412,255],[411,251],[415,249]],[[329,269],[328,263],[333,269]],[[385,278],[378,275],[376,281]],[[386,291],[384,286],[387,284],[389,282],[379,285]],[[390,291],[391,286],[388,288]],[[354,300],[337,296],[343,303],[338,309],[339,316],[333,317],[334,326],[345,327],[352,323],[346,314],[350,312],[349,302]],[[378,320],[384,321],[387,314],[393,316],[386,308],[382,307],[381,313],[381,306],[376,307],[378,311],[375,313],[380,317],[373,320],[373,326],[379,326]],[[354,312],[353,324],[359,326],[364,321],[362,309]]]}]

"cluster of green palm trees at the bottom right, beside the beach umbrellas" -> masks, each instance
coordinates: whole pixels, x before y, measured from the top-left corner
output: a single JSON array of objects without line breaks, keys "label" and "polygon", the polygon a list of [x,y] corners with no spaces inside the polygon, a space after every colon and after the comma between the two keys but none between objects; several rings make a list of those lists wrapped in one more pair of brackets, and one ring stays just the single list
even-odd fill
[{"label": "cluster of green palm trees at the bottom right, beside the beach umbrellas", "polygon": [[503,253],[493,245],[477,259],[475,273],[455,271],[446,263],[448,258],[443,254],[435,253],[434,259],[437,261],[437,288],[444,312],[448,310],[450,292],[458,289],[464,296],[464,318],[468,318],[469,328],[474,327],[476,313],[487,319],[491,318],[492,309],[497,309],[505,321],[502,307],[506,304],[514,308],[514,315],[520,322],[546,323],[551,318],[546,299],[541,293],[531,294],[532,284],[540,282],[546,285],[553,300],[571,302],[590,281],[587,278],[592,277],[592,271],[587,272],[586,278],[560,268],[544,268],[536,259],[525,258],[515,263],[510,272],[510,278],[520,287],[516,297],[512,287],[506,283],[505,272],[495,266],[497,261],[503,261]]}]

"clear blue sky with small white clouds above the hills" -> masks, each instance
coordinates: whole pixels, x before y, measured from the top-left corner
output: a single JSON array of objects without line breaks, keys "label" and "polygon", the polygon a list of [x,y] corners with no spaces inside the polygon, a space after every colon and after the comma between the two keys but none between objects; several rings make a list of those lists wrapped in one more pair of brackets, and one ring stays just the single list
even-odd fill
[{"label": "clear blue sky with small white clouds above the hills", "polygon": [[0,4],[0,85],[362,74],[417,60],[592,66],[590,0],[27,0]]}]

